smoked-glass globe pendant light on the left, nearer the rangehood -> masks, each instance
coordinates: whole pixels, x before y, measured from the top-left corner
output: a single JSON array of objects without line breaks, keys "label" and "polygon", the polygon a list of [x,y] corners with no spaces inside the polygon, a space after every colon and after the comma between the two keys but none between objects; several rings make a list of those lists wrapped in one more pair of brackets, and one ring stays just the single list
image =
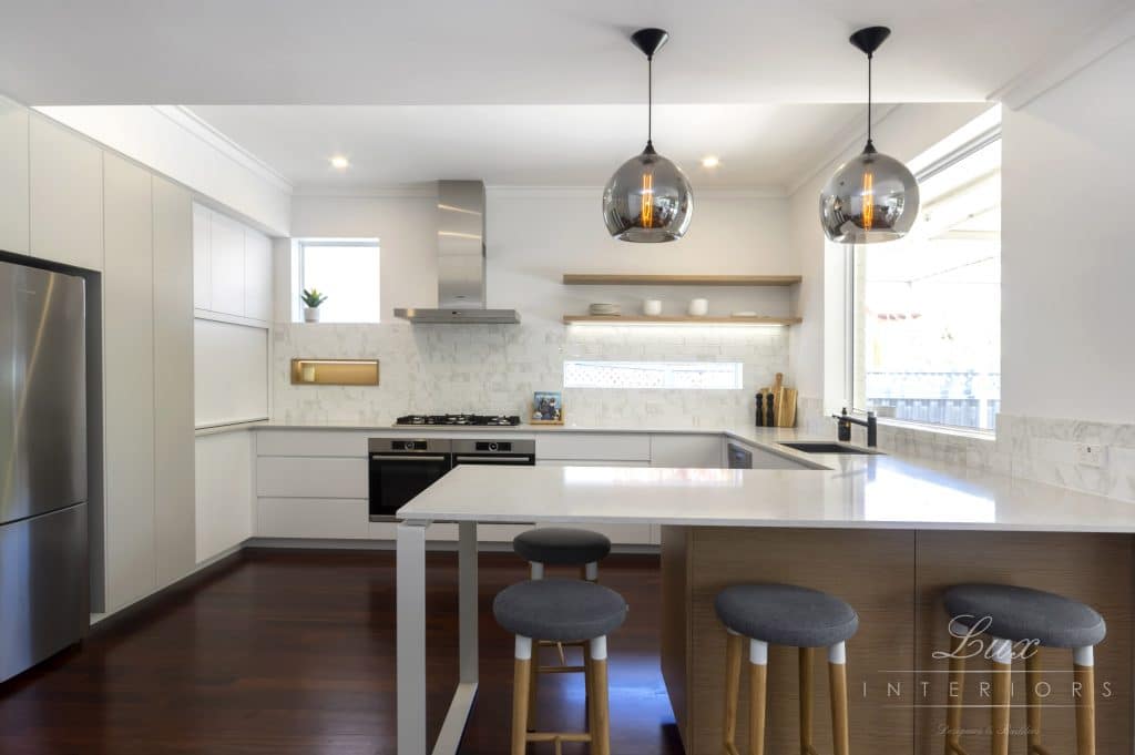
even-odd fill
[{"label": "smoked-glass globe pendant light on the left, nearer the rangehood", "polygon": [[678,241],[693,213],[689,179],[681,168],[655,152],[650,141],[654,53],[667,39],[670,35],[661,28],[642,28],[631,35],[647,60],[647,137],[642,154],[620,166],[603,192],[603,220],[620,241]]}]

